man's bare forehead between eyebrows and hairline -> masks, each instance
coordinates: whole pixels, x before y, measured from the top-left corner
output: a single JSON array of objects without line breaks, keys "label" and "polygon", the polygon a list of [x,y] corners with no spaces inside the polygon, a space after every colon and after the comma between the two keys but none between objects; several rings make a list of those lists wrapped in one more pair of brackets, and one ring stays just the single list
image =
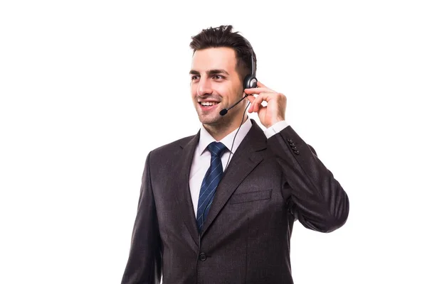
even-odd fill
[{"label": "man's bare forehead between eyebrows and hairline", "polygon": [[208,70],[236,70],[236,52],[232,48],[206,48],[196,50],[191,62],[191,69],[199,72]]}]

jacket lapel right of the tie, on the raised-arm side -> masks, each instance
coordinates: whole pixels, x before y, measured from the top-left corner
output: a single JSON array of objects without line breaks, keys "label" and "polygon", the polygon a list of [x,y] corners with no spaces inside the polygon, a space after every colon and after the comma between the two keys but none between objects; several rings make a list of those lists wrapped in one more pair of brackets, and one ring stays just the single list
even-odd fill
[{"label": "jacket lapel right of the tie, on the raised-arm side", "polygon": [[251,171],[263,160],[260,152],[266,148],[266,138],[262,129],[252,120],[251,130],[248,132],[241,145],[231,158],[223,178],[216,188],[214,200],[209,209],[208,217],[204,224],[202,236],[209,229],[212,222],[231,197],[238,185],[251,173]]}]

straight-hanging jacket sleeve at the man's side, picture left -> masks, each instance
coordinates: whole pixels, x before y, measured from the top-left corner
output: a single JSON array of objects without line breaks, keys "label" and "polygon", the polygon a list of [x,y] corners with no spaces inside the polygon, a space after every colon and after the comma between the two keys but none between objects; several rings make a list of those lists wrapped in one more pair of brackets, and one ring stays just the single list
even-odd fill
[{"label": "straight-hanging jacket sleeve at the man's side, picture left", "polygon": [[142,173],[137,216],[122,284],[159,284],[162,275],[162,243],[150,179],[149,155]]}]

